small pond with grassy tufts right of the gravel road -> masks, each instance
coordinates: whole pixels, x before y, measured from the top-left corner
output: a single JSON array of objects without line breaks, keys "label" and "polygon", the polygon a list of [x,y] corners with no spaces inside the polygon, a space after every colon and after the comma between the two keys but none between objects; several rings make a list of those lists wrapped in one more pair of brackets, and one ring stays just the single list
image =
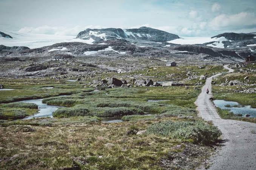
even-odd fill
[{"label": "small pond with grassy tufts right of the gravel road", "polygon": [[[238,102],[226,100],[213,100],[213,103],[221,109],[230,109],[234,114],[242,114],[243,117],[245,117],[245,114],[251,115],[250,117],[256,117],[256,108],[251,108],[251,106],[242,106]],[[227,107],[227,105],[230,105],[230,107]]]}]

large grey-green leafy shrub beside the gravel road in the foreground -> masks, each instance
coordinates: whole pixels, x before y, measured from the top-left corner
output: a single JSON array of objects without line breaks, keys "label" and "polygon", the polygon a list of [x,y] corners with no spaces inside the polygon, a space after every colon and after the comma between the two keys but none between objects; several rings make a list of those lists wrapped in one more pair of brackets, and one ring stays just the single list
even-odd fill
[{"label": "large grey-green leafy shrub beside the gravel road in the foreground", "polygon": [[148,134],[192,139],[195,143],[210,144],[221,136],[221,131],[204,121],[164,121],[147,128]]}]

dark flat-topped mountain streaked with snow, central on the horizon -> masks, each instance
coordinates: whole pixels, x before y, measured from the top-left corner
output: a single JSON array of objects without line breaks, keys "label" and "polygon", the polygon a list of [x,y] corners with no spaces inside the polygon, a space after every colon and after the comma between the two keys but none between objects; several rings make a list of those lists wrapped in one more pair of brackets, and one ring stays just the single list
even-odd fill
[{"label": "dark flat-topped mountain streaked with snow, central on the horizon", "polygon": [[111,39],[140,39],[155,42],[166,42],[178,39],[179,36],[162,30],[149,27],[140,27],[138,29],[86,29],[79,32],[76,38],[93,39],[95,42],[106,41]]}]

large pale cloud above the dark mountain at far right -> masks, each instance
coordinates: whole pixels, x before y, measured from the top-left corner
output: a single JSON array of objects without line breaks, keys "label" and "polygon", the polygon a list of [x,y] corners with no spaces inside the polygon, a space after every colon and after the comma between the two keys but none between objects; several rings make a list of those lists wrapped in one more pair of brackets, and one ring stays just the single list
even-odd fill
[{"label": "large pale cloud above the dark mountain at far right", "polygon": [[223,29],[242,29],[255,27],[256,16],[254,13],[241,12],[234,15],[221,14],[213,18],[210,21],[209,26],[213,30],[223,30]]}]

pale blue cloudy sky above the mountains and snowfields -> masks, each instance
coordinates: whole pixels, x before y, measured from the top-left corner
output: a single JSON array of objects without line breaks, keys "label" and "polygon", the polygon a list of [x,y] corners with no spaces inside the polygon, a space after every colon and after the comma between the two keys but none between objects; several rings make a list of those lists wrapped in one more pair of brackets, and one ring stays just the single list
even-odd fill
[{"label": "pale blue cloudy sky above the mountains and snowfields", "polygon": [[0,29],[76,36],[87,28],[179,36],[256,32],[256,0],[0,0]]}]

